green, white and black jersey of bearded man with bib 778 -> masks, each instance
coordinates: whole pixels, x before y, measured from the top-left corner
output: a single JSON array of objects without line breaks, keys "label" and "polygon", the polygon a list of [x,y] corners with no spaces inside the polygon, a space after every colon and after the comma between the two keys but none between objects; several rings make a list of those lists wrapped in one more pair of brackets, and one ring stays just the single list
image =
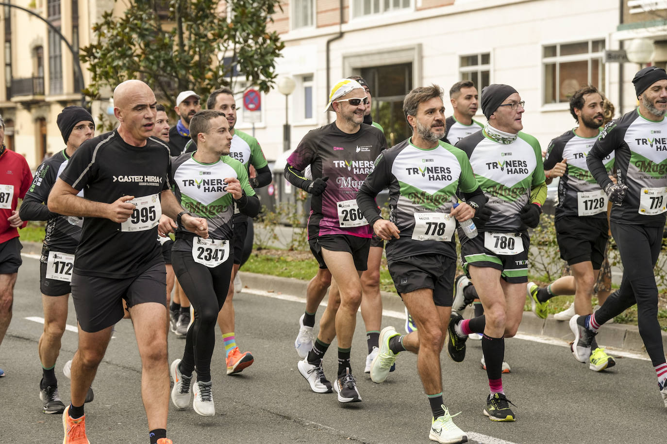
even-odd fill
[{"label": "green, white and black jersey of bearded man with bib 778", "polygon": [[385,188],[390,220],[401,232],[399,239],[387,242],[388,260],[420,254],[456,259],[456,220],[449,215],[452,198],[458,188],[463,192],[478,188],[466,154],[442,141],[423,150],[404,140],[378,156],[360,194],[376,196]]}]

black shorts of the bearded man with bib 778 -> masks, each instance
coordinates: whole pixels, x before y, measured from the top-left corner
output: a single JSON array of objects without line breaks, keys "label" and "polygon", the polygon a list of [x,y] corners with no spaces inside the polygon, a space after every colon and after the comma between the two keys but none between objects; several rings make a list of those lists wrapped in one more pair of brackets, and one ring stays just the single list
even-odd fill
[{"label": "black shorts of the bearded man with bib 778", "polygon": [[436,306],[452,306],[456,259],[444,254],[421,254],[388,262],[387,265],[398,294],[430,288]]}]

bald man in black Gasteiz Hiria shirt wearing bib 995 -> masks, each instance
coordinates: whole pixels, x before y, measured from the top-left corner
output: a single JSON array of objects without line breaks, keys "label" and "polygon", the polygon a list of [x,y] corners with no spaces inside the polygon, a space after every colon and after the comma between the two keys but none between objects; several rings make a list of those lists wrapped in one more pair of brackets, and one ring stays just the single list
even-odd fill
[{"label": "bald man in black Gasteiz Hiria shirt wearing bib 995", "polygon": [[[116,130],[77,149],[49,194],[49,210],[83,217],[72,273],[79,347],[71,366],[71,403],[63,444],[87,442],[83,401],[113,325],[127,301],[141,355],[141,396],[151,444],[168,444],[169,364],[165,268],[155,242],[159,214],[207,237],[206,221],[182,212],[169,190],[169,147],[151,138],[155,95],[129,80],[113,93]],[[77,196],[83,190],[83,198]],[[179,213],[180,212],[180,213]]]}]

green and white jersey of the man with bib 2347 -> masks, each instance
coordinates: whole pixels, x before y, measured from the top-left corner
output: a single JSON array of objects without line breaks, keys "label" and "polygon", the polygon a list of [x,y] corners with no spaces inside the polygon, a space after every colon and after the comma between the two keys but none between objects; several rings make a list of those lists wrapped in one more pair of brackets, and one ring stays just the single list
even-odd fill
[{"label": "green and white jersey of the man with bib 2347", "polygon": [[[208,222],[209,238],[229,240],[233,233],[234,200],[227,192],[226,178],[237,178],[247,196],[254,196],[255,190],[248,183],[247,170],[229,156],[221,156],[212,164],[203,164],[193,158],[192,153],[181,154],[171,162],[171,178],[178,202],[194,216]],[[189,233],[183,228],[178,232]],[[191,238],[186,237],[191,242]],[[191,245],[174,245],[174,250],[189,251]]]}]

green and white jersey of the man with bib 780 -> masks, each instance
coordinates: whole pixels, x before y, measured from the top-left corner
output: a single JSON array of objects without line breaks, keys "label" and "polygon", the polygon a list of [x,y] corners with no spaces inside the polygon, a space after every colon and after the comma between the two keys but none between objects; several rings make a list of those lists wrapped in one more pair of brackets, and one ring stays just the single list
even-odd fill
[{"label": "green and white jersey of the man with bib 780", "polygon": [[510,143],[490,139],[484,130],[456,145],[470,158],[491,217],[480,231],[519,232],[521,209],[530,202],[530,190],[544,182],[542,150],[533,136],[519,132]]}]

